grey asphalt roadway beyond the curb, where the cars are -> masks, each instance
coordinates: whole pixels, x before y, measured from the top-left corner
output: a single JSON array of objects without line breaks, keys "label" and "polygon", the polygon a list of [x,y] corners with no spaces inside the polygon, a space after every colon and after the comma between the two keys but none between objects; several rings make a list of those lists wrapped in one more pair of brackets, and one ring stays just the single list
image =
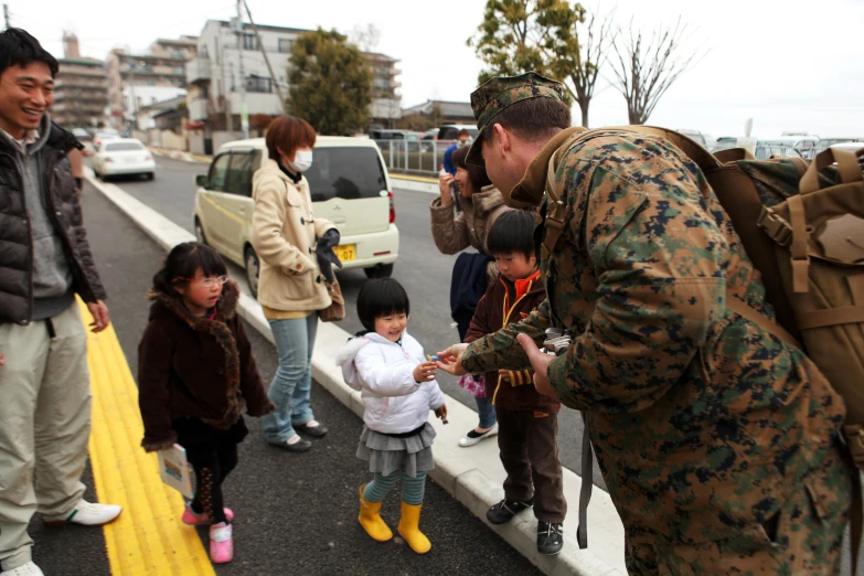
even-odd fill
[{"label": "grey asphalt roadway beyond the curb, where the cars are", "polygon": [[[206,173],[207,164],[168,158],[157,158],[157,163],[156,180],[152,182],[139,178],[124,178],[111,180],[111,183],[189,232],[194,232],[194,181],[196,174]],[[452,320],[449,313],[450,274],[456,256],[440,254],[433,242],[429,202],[434,195],[398,189],[394,190],[394,194],[396,225],[399,228],[399,259],[393,277],[405,286],[410,298],[408,331],[427,352],[444,350],[459,339],[456,328],[450,326]],[[235,269],[242,271],[239,267]],[[362,270],[340,271],[338,276],[346,308],[345,320],[339,326],[354,333],[362,329],[356,316],[356,296],[366,277]],[[473,397],[457,385],[456,378],[441,374],[439,383],[447,394],[477,409]],[[469,424],[466,431],[470,428]],[[580,473],[583,424],[578,413],[564,408],[558,416],[558,430],[562,463]],[[594,483],[606,488],[596,460]]]}]

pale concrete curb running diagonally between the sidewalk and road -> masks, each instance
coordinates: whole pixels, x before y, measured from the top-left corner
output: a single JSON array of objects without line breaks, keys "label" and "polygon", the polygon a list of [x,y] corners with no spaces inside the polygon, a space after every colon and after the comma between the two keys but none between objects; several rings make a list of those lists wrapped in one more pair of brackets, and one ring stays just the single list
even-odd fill
[{"label": "pale concrete curb running diagonally between the sidewalk and road", "polygon": [[[85,175],[94,188],[163,249],[168,250],[179,243],[195,239],[194,235],[115,184],[97,181],[92,170],[86,169]],[[273,333],[260,306],[246,292],[245,278],[233,277],[233,279],[243,291],[238,308],[241,317],[273,342]],[[348,332],[333,323],[319,323],[316,350],[312,354],[312,377],[354,414],[362,417],[363,403],[360,393],[344,383],[342,371],[333,361],[337,350],[349,338]],[[446,402],[451,423],[476,422],[477,415],[473,410],[449,396]],[[623,526],[608,493],[602,490],[594,491],[588,508],[589,538],[593,546],[582,551],[575,537],[577,525],[575,512],[582,479],[565,468],[564,492],[569,503],[570,514],[565,523],[564,550],[557,556],[543,556],[536,550],[536,523],[532,514],[522,514],[503,526],[493,526],[486,519],[487,510],[503,498],[502,482],[505,473],[498,457],[495,442],[481,442],[466,450],[457,444],[465,426],[445,426],[437,418],[433,418],[431,424],[438,433],[438,440],[434,450],[436,468],[429,476],[544,574],[551,576],[627,574],[623,559]]]}]

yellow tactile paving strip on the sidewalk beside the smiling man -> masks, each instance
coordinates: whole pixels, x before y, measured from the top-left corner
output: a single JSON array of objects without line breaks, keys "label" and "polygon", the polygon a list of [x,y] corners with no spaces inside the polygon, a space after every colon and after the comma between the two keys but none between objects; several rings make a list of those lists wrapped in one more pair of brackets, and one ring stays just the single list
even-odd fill
[{"label": "yellow tactile paving strip on the sidewalk beside the smiling man", "polygon": [[[78,303],[86,323],[89,312]],[[114,327],[88,332],[87,346],[96,493],[100,502],[124,508],[120,518],[104,527],[111,575],[215,575],[198,532],[180,521],[183,498],[162,483],[156,455],[140,447],[138,387]]]}]

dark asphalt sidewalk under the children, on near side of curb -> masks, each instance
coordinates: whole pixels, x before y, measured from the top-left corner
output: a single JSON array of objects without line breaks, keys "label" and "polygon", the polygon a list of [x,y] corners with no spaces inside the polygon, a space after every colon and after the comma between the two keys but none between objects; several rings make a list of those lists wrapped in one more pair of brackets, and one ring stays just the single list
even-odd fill
[{"label": "dark asphalt sidewalk under the children, on near side of curb", "polygon": [[[160,174],[163,175],[163,174]],[[163,179],[160,179],[163,180]],[[97,267],[109,294],[111,319],[132,374],[149,305],[145,292],[164,254],[134,223],[86,185],[85,222]],[[274,346],[246,326],[262,377],[269,384]],[[305,455],[266,445],[259,422],[246,418],[250,434],[241,445],[239,465],[224,486],[235,514],[235,559],[220,575],[531,575],[540,572],[434,481],[427,482],[420,526],[433,550],[412,552],[399,538],[378,544],[356,522],[358,487],[369,480],[354,457],[362,422],[317,384],[316,417],[330,433]],[[138,449],[137,447],[135,449]],[[95,500],[92,477],[88,498]],[[397,491],[385,500],[383,516],[395,531]],[[31,526],[34,561],[46,575],[106,575],[99,529]],[[206,544],[206,530],[200,529]]]}]

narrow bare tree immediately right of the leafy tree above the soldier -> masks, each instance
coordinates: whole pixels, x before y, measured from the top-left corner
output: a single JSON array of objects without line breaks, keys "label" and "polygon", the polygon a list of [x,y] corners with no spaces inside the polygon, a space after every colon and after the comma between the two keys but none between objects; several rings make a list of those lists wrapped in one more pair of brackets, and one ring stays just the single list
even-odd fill
[{"label": "narrow bare tree immediately right of the leafy tree above the soldier", "polygon": [[[609,49],[618,33],[612,28],[615,9],[600,15],[599,6],[586,11],[584,22],[576,22],[575,36],[578,38],[578,50],[561,54],[558,64],[561,72],[569,73],[573,93],[582,110],[582,125],[588,128],[588,106],[594,98],[597,77],[609,58]],[[564,74],[562,74],[564,77]]]}]

